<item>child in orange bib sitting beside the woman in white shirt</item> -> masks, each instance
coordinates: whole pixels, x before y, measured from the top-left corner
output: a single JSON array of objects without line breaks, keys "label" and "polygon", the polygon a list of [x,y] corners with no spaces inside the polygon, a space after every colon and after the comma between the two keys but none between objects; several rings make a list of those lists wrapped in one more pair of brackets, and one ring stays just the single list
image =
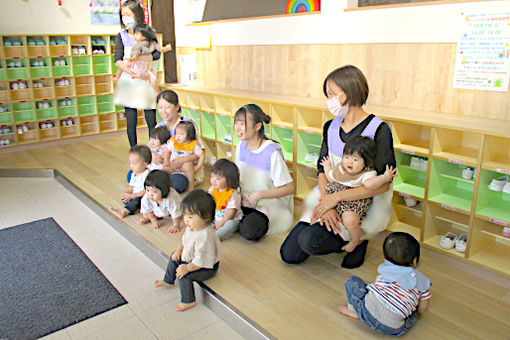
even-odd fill
[{"label": "child in orange bib sitting beside the woman in white shirt", "polygon": [[239,169],[228,159],[222,158],[214,163],[211,169],[211,187],[209,193],[216,202],[214,227],[220,240],[234,234],[243,212],[241,210],[241,194],[239,188]]}]

